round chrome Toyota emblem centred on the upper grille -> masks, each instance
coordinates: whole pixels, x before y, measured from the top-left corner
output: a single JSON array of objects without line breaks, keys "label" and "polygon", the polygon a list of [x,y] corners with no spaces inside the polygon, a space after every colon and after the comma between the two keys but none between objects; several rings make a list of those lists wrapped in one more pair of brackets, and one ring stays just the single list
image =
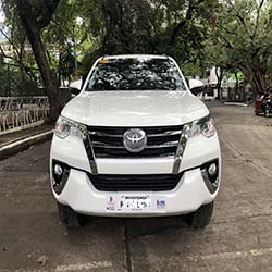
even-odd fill
[{"label": "round chrome Toyota emblem centred on the upper grille", "polygon": [[137,153],[143,151],[147,145],[146,133],[139,128],[132,128],[124,133],[123,144],[127,151]]}]

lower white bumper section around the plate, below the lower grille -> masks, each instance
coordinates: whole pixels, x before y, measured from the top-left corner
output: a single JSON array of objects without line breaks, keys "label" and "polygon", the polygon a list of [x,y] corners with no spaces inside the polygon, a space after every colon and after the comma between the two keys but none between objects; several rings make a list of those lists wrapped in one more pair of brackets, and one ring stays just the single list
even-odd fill
[{"label": "lower white bumper section around the plate, below the lower grille", "polygon": [[[98,191],[92,186],[88,175],[79,170],[72,169],[63,191],[54,193],[57,200],[70,206],[73,210],[94,215],[107,217],[156,217],[183,214],[197,210],[200,206],[211,202],[217,193],[210,194],[200,169],[187,171],[182,176],[177,187],[171,191]],[[151,208],[148,211],[118,210],[118,201],[126,197],[148,196],[151,199]],[[109,199],[113,199],[116,207],[108,210]],[[163,200],[165,206],[158,208],[157,201]]]}]

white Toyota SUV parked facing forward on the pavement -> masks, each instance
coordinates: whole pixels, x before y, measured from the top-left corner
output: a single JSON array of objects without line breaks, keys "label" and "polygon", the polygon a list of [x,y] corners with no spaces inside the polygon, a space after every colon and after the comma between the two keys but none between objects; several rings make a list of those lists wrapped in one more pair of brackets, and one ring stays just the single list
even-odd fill
[{"label": "white Toyota SUV parked facing forward on the pavement", "polygon": [[55,124],[50,172],[70,227],[86,214],[189,214],[205,227],[220,185],[220,145],[172,58],[103,57]]}]

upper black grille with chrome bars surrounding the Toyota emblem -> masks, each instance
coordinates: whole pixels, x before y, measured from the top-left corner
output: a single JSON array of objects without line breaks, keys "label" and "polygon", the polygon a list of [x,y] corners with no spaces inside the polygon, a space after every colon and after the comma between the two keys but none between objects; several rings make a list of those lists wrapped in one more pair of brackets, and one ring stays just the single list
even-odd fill
[{"label": "upper black grille with chrome bars surrounding the Toyota emblem", "polygon": [[96,158],[160,158],[174,157],[183,126],[137,127],[145,131],[147,147],[138,152],[127,151],[123,134],[133,127],[88,127]]}]

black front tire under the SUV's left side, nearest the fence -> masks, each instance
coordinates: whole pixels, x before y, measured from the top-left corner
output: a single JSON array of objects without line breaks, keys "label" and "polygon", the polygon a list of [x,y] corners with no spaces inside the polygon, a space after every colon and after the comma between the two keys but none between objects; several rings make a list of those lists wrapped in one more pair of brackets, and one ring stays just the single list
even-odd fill
[{"label": "black front tire under the SUV's left side, nearest the fence", "polygon": [[86,224],[87,217],[75,212],[69,206],[58,202],[60,221],[69,228],[78,228]]}]

